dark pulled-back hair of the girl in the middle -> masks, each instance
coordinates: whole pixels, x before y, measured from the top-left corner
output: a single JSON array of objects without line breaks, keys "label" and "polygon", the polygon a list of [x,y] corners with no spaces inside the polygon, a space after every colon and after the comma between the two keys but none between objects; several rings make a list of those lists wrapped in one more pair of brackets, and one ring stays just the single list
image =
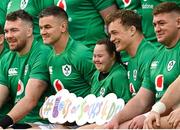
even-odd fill
[{"label": "dark pulled-back hair of the girl in the middle", "polygon": [[120,52],[116,51],[115,45],[110,41],[109,38],[101,39],[96,44],[97,45],[105,45],[106,46],[106,51],[109,53],[109,55],[115,54],[115,60],[117,62],[123,64],[122,61],[121,61]]}]

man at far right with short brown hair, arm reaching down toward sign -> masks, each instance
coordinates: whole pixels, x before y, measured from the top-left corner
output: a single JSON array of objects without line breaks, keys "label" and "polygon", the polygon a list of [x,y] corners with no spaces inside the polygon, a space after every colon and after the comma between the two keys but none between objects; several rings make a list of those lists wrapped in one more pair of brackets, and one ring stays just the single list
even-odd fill
[{"label": "man at far right with short brown hair, arm reaching down toward sign", "polygon": [[[142,128],[145,115],[141,114],[147,112],[147,108],[152,107],[152,104],[163,96],[168,86],[179,76],[180,7],[172,2],[164,2],[154,8],[153,15],[156,36],[163,46],[150,60],[137,95],[106,125],[107,128],[119,128],[128,120],[130,121],[127,122],[126,127]],[[136,117],[138,115],[140,117]],[[140,118],[141,122],[137,121]]]}]

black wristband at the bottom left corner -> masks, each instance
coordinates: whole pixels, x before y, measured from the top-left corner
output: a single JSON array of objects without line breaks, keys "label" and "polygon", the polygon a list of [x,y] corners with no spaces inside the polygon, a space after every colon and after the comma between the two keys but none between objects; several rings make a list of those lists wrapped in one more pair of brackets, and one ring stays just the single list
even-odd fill
[{"label": "black wristband at the bottom left corner", "polygon": [[13,119],[9,115],[5,115],[4,118],[2,118],[0,121],[0,127],[2,127],[3,129],[6,129],[12,124],[13,124]]}]

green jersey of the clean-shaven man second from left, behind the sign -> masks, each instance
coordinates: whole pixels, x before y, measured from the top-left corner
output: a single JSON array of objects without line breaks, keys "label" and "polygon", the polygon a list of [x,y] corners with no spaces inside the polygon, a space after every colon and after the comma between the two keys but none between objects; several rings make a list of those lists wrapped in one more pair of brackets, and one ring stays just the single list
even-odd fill
[{"label": "green jersey of the clean-shaven man second from left, behind the sign", "polygon": [[92,52],[86,46],[69,37],[61,54],[55,54],[52,50],[48,67],[51,84],[56,92],[65,88],[80,97],[90,93],[95,66],[92,63]]}]

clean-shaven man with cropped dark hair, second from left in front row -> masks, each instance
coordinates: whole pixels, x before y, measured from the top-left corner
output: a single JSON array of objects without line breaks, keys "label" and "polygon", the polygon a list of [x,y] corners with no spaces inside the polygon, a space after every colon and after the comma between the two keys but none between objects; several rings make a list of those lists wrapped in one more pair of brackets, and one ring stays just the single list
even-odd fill
[{"label": "clean-shaven man with cropped dark hair, second from left in front row", "polygon": [[76,96],[88,95],[95,71],[92,52],[69,35],[66,12],[57,6],[44,9],[39,26],[44,43],[53,46],[48,67],[56,92],[65,88]]}]

